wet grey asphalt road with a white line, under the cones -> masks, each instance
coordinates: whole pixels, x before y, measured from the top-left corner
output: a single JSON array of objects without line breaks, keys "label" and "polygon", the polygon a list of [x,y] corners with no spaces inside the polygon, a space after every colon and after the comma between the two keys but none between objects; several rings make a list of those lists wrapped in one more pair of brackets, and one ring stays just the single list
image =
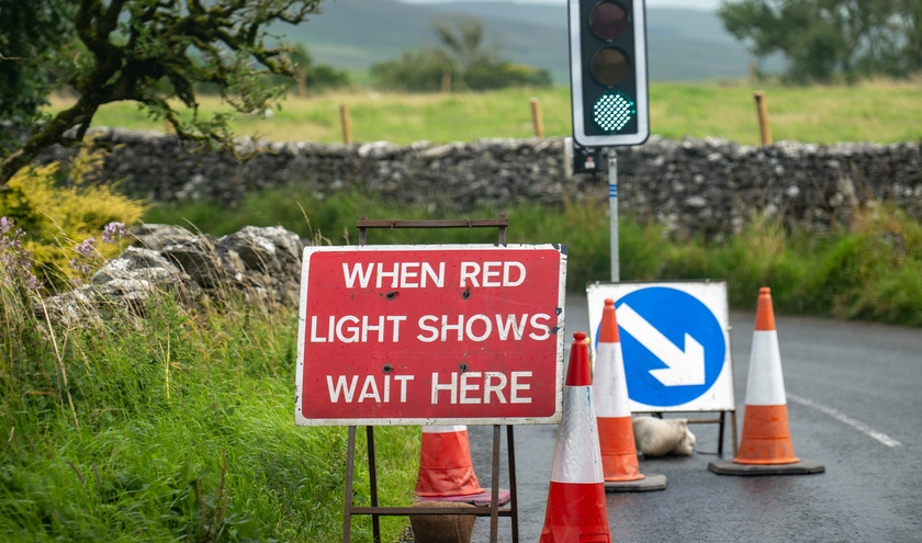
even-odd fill
[{"label": "wet grey asphalt road with a white line, under the cones", "polygon": [[[588,328],[585,304],[567,301],[567,338]],[[754,319],[731,316],[739,425]],[[668,477],[666,490],[607,496],[612,541],[922,542],[922,330],[782,316],[777,327],[795,452],[827,473],[712,474],[717,426],[696,425],[694,455],[641,461],[642,473]],[[492,427],[469,432],[488,488]],[[555,426],[515,428],[522,542],[538,541],[543,525],[555,438]],[[724,443],[729,459],[729,432]],[[511,541],[510,525],[499,520],[499,541]],[[488,528],[477,519],[473,541],[490,541]]]}]

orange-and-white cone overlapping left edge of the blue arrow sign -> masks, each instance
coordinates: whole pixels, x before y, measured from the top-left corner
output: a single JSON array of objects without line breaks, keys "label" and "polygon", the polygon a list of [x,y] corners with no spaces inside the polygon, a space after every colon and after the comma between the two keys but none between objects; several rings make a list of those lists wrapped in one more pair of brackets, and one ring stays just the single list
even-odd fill
[{"label": "orange-and-white cone overlapping left edge of the blue arrow sign", "polygon": [[644,476],[640,473],[615,301],[610,298],[605,301],[605,308],[601,310],[593,376],[593,401],[598,417],[605,489],[612,493],[664,490],[665,475]]}]

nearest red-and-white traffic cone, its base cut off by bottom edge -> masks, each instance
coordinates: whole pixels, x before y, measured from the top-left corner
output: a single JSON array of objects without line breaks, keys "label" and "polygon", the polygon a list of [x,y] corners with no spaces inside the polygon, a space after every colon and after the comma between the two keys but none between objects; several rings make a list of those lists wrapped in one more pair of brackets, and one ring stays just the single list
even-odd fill
[{"label": "nearest red-and-white traffic cone, its base cut off by bottom edge", "polygon": [[586,333],[575,332],[540,543],[610,543]]}]

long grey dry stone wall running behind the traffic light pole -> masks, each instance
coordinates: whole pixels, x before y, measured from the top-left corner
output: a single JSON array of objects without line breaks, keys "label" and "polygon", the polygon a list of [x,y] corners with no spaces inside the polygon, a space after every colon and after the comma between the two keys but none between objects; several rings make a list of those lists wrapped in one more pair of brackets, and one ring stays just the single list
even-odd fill
[{"label": "long grey dry stone wall running behind the traffic light pole", "polygon": [[[226,151],[198,152],[175,136],[95,131],[111,156],[101,177],[157,202],[211,200],[236,205],[250,191],[297,186],[318,196],[360,191],[460,215],[484,206],[607,197],[604,174],[567,178],[563,139],[482,139],[436,145],[255,143],[239,162]],[[54,148],[42,161],[70,150]],[[721,238],[754,213],[825,229],[855,211],[892,202],[922,219],[922,146],[782,142],[747,147],[721,139],[651,137],[617,150],[620,208],[659,222],[676,237]]]}]

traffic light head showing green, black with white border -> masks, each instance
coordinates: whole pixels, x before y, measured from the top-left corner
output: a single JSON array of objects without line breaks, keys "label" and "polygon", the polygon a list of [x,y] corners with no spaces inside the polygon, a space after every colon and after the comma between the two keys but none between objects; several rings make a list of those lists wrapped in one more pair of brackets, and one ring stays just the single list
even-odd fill
[{"label": "traffic light head showing green, black with white border", "polygon": [[573,138],[585,147],[650,136],[644,0],[567,0]]}]

